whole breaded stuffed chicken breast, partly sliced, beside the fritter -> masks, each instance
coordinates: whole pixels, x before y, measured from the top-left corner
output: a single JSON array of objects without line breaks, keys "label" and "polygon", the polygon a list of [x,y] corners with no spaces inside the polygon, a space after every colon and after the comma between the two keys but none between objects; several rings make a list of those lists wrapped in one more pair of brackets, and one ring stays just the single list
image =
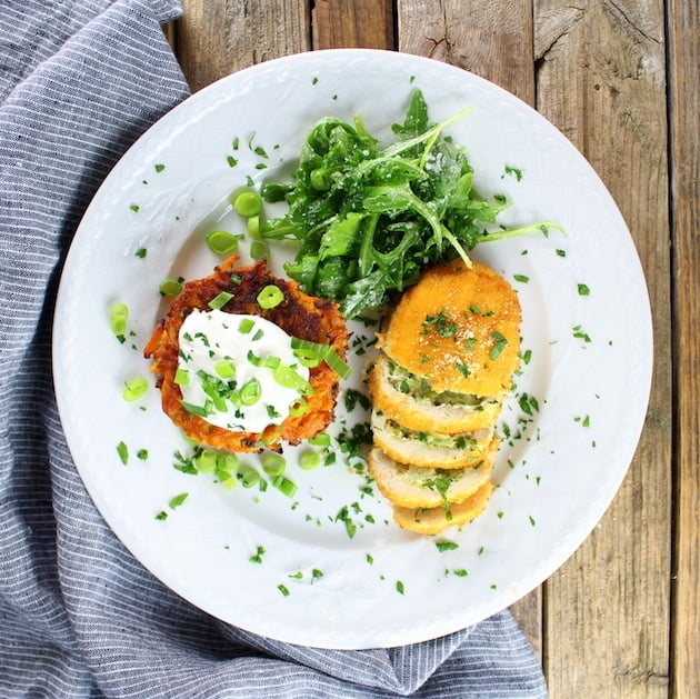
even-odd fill
[{"label": "whole breaded stuffed chicken breast, partly sliced, beside the fritter", "polygon": [[486,508],[520,320],[504,279],[457,260],[426,272],[378,334],[369,469],[399,526],[434,535]]}]

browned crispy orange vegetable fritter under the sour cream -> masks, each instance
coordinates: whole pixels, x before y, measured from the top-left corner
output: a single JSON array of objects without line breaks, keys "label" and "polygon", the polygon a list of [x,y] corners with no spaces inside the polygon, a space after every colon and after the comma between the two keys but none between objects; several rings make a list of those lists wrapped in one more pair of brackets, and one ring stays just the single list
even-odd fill
[{"label": "browned crispy orange vegetable fritter under the sour cream", "polygon": [[[313,392],[307,397],[309,409],[301,416],[288,416],[279,427],[270,426],[263,432],[217,427],[182,407],[182,393],[174,382],[179,332],[184,318],[196,308],[209,310],[209,302],[227,291],[233,297],[222,311],[261,316],[292,337],[332,346],[341,359],[346,358],[348,330],[332,301],[309,296],[296,282],[274,277],[264,260],[244,267],[237,267],[237,262],[238,257],[232,256],[209,277],[184,283],[168,316],[157,326],[143,355],[153,360],[151,371],[158,377],[164,412],[190,439],[227,451],[280,450],[282,441],[297,445],[330,423],[338,397],[338,375],[323,361],[311,368],[309,382]],[[284,300],[274,308],[263,310],[256,299],[268,284],[281,289]]]}]

